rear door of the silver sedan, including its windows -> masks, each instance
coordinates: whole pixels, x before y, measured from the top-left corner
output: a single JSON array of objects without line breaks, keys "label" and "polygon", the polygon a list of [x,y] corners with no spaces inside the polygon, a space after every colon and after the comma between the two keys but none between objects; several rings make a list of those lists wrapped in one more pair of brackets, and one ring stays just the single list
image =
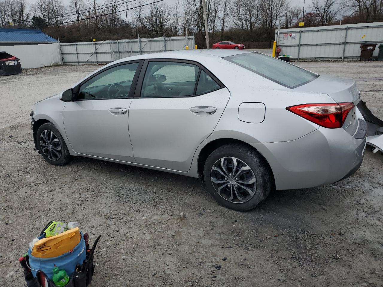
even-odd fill
[{"label": "rear door of the silver sedan, including its windows", "polygon": [[129,108],[137,163],[190,170],[198,145],[214,130],[230,93],[192,61],[146,60]]}]

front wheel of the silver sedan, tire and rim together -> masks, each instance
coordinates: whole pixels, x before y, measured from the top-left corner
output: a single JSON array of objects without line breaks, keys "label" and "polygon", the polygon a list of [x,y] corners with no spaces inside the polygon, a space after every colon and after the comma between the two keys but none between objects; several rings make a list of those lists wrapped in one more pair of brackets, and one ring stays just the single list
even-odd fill
[{"label": "front wheel of the silver sedan, tire and rim together", "polygon": [[[49,140],[49,137],[51,137],[51,140]],[[51,165],[65,165],[72,159],[64,139],[51,122],[42,124],[39,127],[36,139],[39,152],[44,160]],[[44,144],[47,145],[44,146]]]}]

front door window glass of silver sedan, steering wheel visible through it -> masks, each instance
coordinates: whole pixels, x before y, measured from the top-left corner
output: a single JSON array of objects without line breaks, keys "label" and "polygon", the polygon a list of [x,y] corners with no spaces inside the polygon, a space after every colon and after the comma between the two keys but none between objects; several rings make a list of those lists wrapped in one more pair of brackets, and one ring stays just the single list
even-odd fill
[{"label": "front door window glass of silver sedan, steering wheel visible through it", "polygon": [[138,63],[110,68],[80,86],[77,99],[128,98]]}]

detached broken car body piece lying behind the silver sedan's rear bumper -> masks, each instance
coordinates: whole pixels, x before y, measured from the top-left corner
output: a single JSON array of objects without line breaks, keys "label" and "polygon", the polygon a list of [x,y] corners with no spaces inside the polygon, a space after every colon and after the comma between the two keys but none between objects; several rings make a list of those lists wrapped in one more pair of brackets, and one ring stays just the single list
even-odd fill
[{"label": "detached broken car body piece lying behind the silver sedan's rear bumper", "polygon": [[383,152],[383,121],[371,113],[366,102],[360,101],[357,107],[367,123],[367,144],[374,148],[373,153]]}]

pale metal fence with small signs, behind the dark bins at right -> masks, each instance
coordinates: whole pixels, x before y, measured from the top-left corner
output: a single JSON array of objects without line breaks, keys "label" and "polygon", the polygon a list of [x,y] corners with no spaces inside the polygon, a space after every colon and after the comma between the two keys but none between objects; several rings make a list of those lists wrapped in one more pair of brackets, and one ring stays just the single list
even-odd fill
[{"label": "pale metal fence with small signs, behind the dark bins at right", "polygon": [[383,22],[281,29],[275,39],[292,59],[358,59],[361,43],[383,43]]}]

